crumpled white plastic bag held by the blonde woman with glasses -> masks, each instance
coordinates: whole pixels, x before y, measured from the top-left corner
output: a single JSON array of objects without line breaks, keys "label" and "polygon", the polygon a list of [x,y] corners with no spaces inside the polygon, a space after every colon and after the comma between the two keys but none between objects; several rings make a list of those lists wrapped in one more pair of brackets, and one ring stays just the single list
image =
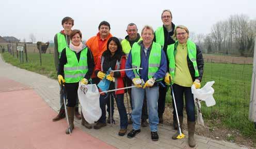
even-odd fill
[{"label": "crumpled white plastic bag held by the blonde woman with glasses", "polygon": [[196,89],[195,85],[191,86],[192,94],[194,95],[194,102],[197,108],[197,123],[204,126],[203,117],[201,113],[201,101],[205,101],[207,107],[213,106],[216,104],[213,94],[214,89],[212,88],[215,82],[207,82],[202,88]]}]

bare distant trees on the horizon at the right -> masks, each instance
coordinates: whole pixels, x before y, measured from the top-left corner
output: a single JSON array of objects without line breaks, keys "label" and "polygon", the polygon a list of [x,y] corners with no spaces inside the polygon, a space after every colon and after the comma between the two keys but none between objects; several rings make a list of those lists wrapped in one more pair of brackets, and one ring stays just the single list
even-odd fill
[{"label": "bare distant trees on the horizon at the right", "polygon": [[253,57],[256,20],[244,14],[231,15],[212,26],[211,33],[194,35],[204,53],[222,53]]}]

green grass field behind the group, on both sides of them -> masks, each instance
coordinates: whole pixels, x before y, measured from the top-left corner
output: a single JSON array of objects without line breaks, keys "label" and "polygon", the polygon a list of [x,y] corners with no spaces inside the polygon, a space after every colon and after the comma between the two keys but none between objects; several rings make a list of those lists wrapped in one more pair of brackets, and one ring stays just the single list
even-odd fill
[{"label": "green grass field behind the group, on both sides of them", "polygon": [[[6,52],[3,53],[3,57],[7,63],[14,66],[57,78],[53,54],[42,54],[42,66],[37,53],[28,53],[28,63],[20,63],[19,59]],[[215,81],[213,88],[216,105],[206,107],[203,102],[201,103],[204,119],[219,119],[221,125],[237,129],[255,142],[256,130],[253,123],[248,120],[251,75],[252,65],[205,63],[201,86],[208,81]],[[171,103],[170,90],[166,102]]]}]

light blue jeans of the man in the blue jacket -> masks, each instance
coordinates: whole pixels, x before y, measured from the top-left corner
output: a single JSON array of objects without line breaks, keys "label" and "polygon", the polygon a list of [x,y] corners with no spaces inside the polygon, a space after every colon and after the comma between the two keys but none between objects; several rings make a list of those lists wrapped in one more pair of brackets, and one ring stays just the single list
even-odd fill
[{"label": "light blue jeans of the man in the blue jacket", "polygon": [[147,106],[149,110],[149,127],[151,132],[157,132],[157,124],[159,123],[158,112],[157,112],[157,100],[159,95],[159,87],[146,87],[143,88],[132,88],[132,102],[133,102],[133,111],[132,111],[132,121],[133,129],[140,129],[140,118],[141,118],[141,109],[143,105],[143,99],[146,94]]}]

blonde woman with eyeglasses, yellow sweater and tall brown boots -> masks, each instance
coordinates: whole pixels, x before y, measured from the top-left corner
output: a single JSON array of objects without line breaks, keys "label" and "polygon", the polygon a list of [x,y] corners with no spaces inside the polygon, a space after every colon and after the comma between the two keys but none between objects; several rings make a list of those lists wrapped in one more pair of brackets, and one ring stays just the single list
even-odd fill
[{"label": "blonde woman with eyeglasses, yellow sweater and tall brown boots", "polygon": [[[194,97],[191,92],[191,86],[194,84],[196,88],[200,88],[200,82],[203,76],[203,55],[201,49],[193,41],[188,40],[189,31],[185,26],[177,26],[174,30],[174,44],[167,47],[167,70],[165,76],[166,84],[172,84],[175,103],[182,131],[183,123],[183,108],[185,96],[185,107],[187,113],[188,126],[188,144],[190,147],[196,146],[194,139],[195,134],[195,104]],[[169,78],[172,78],[171,80]],[[172,101],[172,107],[174,103]],[[174,110],[174,116],[175,110]],[[172,136],[172,139],[177,139],[179,130]]]}]

